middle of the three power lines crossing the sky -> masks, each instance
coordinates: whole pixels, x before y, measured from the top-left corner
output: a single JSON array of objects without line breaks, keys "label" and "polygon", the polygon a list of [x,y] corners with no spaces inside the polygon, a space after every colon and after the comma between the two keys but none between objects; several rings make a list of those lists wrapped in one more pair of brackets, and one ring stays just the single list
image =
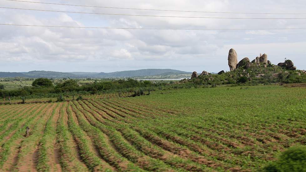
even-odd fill
[{"label": "middle of the three power lines crossing the sky", "polygon": [[55,10],[39,10],[39,9],[27,9],[27,8],[9,8],[0,7],[5,9],[18,9],[18,10],[32,10],[32,11],[44,11],[44,12],[60,12],[60,13],[80,13],[80,14],[100,14],[100,15],[120,15],[120,16],[141,16],[141,17],[168,17],[168,18],[217,18],[217,19],[306,19],[306,18],[230,18],[230,17],[191,17],[191,16],[158,16],[158,15],[136,15],[136,14],[111,14],[111,13],[85,13],[74,11],[55,11]]}]

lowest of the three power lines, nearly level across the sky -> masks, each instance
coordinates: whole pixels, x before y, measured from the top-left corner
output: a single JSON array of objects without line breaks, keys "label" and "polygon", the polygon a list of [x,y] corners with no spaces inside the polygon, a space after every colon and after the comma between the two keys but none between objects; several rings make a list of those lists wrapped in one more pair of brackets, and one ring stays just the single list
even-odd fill
[{"label": "lowest of the three power lines, nearly level across the sky", "polygon": [[33,26],[33,27],[50,27],[50,28],[92,28],[92,29],[137,29],[137,30],[291,30],[306,28],[229,28],[229,29],[210,29],[210,28],[120,28],[120,27],[82,27],[82,26],[46,26],[46,25],[24,25],[24,24],[2,24],[8,26]]}]

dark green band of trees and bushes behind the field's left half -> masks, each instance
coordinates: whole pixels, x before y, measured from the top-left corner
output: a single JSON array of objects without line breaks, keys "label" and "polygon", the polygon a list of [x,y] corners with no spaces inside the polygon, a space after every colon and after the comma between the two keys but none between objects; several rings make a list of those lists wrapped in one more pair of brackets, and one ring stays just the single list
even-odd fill
[{"label": "dark green band of trees and bushes behind the field's left half", "polygon": [[[79,84],[77,80],[66,80],[63,83],[53,85],[52,81],[47,78],[35,79],[32,87],[24,87],[16,90],[0,90],[0,97],[18,97],[18,96],[31,96],[38,97],[52,97],[52,94],[61,94],[68,92],[78,92],[79,94],[96,94],[98,92],[108,92],[121,89],[133,89],[153,87],[156,84],[150,81],[138,81],[134,79],[120,79],[115,81],[104,81],[93,83]],[[33,96],[31,96],[33,97]]]}]

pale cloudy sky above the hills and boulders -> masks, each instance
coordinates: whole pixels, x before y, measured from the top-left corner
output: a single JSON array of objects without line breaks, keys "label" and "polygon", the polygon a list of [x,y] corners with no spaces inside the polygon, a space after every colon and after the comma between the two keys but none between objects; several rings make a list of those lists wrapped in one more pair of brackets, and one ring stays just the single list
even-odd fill
[{"label": "pale cloudy sky above the hills and boulders", "polygon": [[[30,1],[30,0],[29,0]],[[305,13],[305,0],[33,0],[44,3],[119,8],[241,13]],[[306,18],[306,14],[229,14],[75,7],[0,0],[0,7],[86,13],[222,17]],[[210,19],[76,14],[0,8],[1,24],[124,28],[306,28],[306,19]],[[201,73],[229,71],[238,60],[266,53],[273,64],[291,59],[306,69],[306,29],[292,30],[130,30],[0,25],[0,72],[46,70],[115,72],[171,68]]]}]

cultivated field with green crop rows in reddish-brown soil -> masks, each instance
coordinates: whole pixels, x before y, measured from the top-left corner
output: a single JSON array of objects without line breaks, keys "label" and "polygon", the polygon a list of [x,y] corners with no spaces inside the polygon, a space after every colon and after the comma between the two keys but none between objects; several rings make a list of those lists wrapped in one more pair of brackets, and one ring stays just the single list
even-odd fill
[{"label": "cultivated field with green crop rows in reddish-brown soil", "polygon": [[256,171],[306,144],[305,121],[305,87],[0,105],[0,171]]}]

